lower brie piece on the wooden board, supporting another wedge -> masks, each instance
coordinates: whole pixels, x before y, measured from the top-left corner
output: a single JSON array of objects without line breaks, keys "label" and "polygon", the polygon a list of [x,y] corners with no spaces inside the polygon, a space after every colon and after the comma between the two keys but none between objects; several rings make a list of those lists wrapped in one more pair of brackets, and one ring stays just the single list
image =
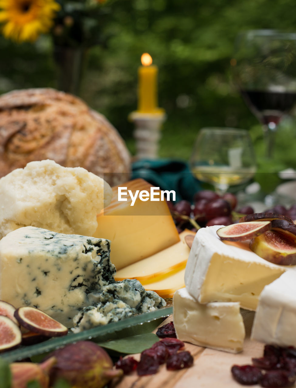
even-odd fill
[{"label": "lower brie piece on the wooden board, supporting another wedge", "polygon": [[243,349],[245,326],[239,303],[201,305],[182,288],[173,297],[173,320],[181,341],[232,353]]}]

